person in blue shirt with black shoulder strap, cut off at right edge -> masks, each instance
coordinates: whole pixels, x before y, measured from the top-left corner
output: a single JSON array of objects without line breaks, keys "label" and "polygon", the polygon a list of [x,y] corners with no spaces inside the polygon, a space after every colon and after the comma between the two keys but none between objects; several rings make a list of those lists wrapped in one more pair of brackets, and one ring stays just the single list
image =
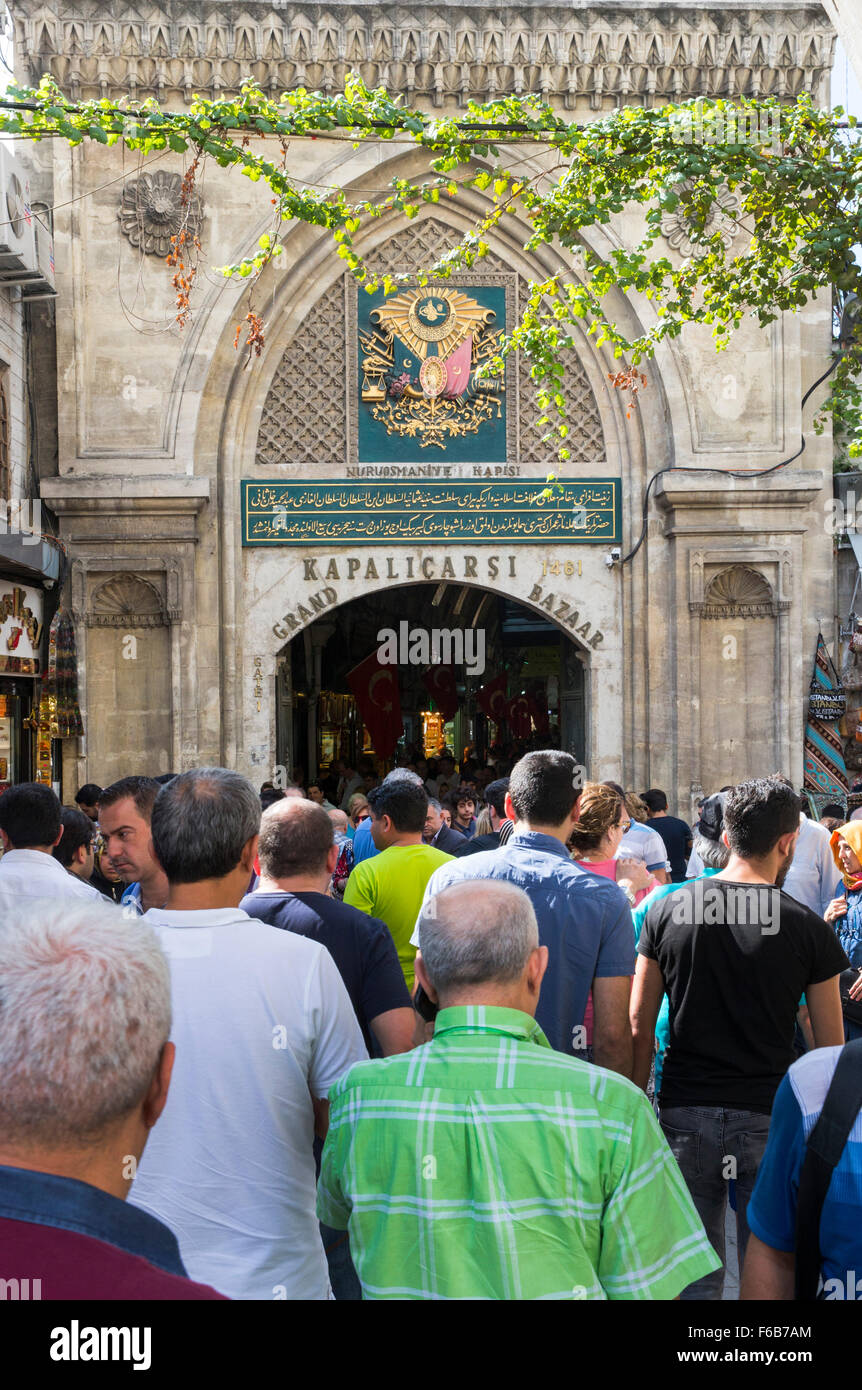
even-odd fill
[{"label": "person in blue shirt with black shoulder strap, cut off at right edge", "polygon": [[[772,1126],[748,1202],[748,1251],[740,1298],[792,1300],[797,1197],[805,1143],[823,1109],[840,1047],[806,1052],[790,1068],[772,1109]],[[826,1193],[820,1216],[823,1298],[862,1298],[862,1112]]]}]

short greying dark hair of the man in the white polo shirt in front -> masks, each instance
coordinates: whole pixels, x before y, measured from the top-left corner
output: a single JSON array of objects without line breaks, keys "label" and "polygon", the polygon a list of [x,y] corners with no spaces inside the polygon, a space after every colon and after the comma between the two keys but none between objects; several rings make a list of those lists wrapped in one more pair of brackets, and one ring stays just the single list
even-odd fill
[{"label": "short greying dark hair of the man in the white polo shirt in front", "polygon": [[168,883],[224,878],[259,828],[257,792],[227,767],[181,773],[153,806],[153,849]]}]

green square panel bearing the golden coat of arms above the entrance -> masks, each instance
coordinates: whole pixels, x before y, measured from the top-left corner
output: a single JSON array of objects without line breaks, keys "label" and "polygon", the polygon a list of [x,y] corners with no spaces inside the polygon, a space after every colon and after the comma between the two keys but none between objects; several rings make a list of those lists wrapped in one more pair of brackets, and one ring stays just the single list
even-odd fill
[{"label": "green square panel bearing the golden coat of arms above the entrance", "polygon": [[475,378],[499,352],[506,291],[425,285],[357,289],[359,461],[506,461],[505,373]]}]

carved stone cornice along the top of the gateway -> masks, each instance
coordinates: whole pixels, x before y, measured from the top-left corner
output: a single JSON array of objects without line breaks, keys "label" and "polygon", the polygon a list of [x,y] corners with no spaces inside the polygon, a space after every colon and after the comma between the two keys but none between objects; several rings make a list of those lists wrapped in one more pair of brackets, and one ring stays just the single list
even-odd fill
[{"label": "carved stone cornice along the top of the gateway", "polygon": [[[834,31],[820,4],[278,4],[10,0],[15,75],[51,74],[75,99],[336,92],[361,71],[409,103],[541,93],[606,110],[695,96],[824,97]],[[823,90],[822,90],[823,89]]]}]

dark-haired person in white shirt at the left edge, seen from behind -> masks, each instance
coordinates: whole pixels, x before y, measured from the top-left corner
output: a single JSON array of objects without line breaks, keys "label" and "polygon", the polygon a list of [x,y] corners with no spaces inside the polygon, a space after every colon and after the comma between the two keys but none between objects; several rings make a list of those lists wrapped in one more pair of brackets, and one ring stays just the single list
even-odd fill
[{"label": "dark-haired person in white shirt at the left edge, seen from behind", "polygon": [[92,884],[67,873],[51,849],[63,840],[60,799],[42,783],[18,783],[0,796],[0,910],[32,898],[75,898],[104,903]]}]

